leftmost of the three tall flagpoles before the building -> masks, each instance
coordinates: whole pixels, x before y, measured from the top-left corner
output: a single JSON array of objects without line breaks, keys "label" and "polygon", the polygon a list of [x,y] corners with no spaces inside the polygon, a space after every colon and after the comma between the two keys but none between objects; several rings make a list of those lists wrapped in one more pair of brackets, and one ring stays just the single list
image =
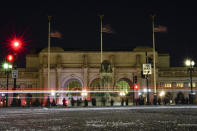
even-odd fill
[{"label": "leftmost of the three tall flagpoles before the building", "polygon": [[48,16],[48,89],[50,89],[51,16]]}]

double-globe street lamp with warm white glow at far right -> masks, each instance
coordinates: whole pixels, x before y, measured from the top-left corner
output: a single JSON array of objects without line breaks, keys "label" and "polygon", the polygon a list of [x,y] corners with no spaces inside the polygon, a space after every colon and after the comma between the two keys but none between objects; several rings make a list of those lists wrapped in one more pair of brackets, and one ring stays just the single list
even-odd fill
[{"label": "double-globe street lamp with warm white glow at far right", "polygon": [[193,60],[186,60],[185,61],[185,65],[188,67],[188,71],[189,71],[189,74],[190,74],[190,87],[191,87],[191,93],[189,94],[189,102],[190,104],[193,104],[193,89],[192,89],[192,72],[194,72],[194,65],[195,65],[195,62]]}]

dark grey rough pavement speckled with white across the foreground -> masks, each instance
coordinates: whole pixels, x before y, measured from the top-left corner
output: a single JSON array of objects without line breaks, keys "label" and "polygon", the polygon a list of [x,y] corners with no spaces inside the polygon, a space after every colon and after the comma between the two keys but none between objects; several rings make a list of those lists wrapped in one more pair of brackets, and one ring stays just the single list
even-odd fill
[{"label": "dark grey rough pavement speckled with white across the foreground", "polygon": [[0,131],[197,130],[197,106],[0,108]]}]

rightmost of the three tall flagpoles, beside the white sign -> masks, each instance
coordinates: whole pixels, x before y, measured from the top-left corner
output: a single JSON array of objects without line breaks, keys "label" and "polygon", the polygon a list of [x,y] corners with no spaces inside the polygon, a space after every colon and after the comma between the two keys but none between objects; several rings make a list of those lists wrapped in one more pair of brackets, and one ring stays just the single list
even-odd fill
[{"label": "rightmost of the three tall flagpoles, beside the white sign", "polygon": [[156,59],[155,59],[155,15],[152,15],[152,28],[153,28],[153,76],[154,76],[154,98],[157,99],[157,90],[156,90]]}]

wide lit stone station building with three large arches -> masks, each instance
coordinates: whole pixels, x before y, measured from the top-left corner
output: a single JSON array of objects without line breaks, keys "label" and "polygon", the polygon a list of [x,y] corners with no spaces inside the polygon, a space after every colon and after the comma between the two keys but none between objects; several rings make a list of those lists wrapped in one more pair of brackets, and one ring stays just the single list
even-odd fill
[{"label": "wide lit stone station building with three large arches", "polygon": [[[120,102],[122,98],[128,98],[129,105],[135,105],[136,99],[139,97],[143,97],[146,101],[147,93],[149,93],[152,103],[153,73],[148,75],[148,88],[147,79],[142,75],[142,65],[146,63],[147,56],[153,57],[152,48],[136,47],[131,51],[104,51],[103,63],[101,64],[100,51],[64,51],[60,47],[51,47],[49,89],[48,49],[45,48],[37,54],[26,56],[26,67],[18,68],[16,90],[79,92],[18,93],[17,99],[21,99],[23,106],[27,104],[27,101],[32,104],[36,99],[42,105],[46,104],[47,99],[50,99],[51,102],[55,100],[56,104],[62,105],[63,98],[67,100],[71,98],[74,100],[91,100],[94,97],[100,101],[99,95],[102,96],[102,93],[99,91],[111,91],[107,95],[107,101],[114,99],[115,102]],[[192,76],[195,93],[197,73],[194,71]],[[1,91],[7,90],[6,80],[5,71],[1,68]],[[8,90],[12,91],[14,81],[11,73],[8,80]],[[134,89],[134,84],[138,86],[138,89]],[[170,55],[156,52],[156,85],[157,97],[162,100],[168,97],[169,104],[174,104],[177,97],[188,98],[191,92],[188,68],[170,67]],[[86,96],[83,96],[80,91],[94,92],[88,92]],[[121,92],[124,93],[121,94]],[[1,93],[0,95],[0,106],[3,106],[6,94]],[[8,96],[8,105],[10,105],[13,94],[9,93]]]}]

